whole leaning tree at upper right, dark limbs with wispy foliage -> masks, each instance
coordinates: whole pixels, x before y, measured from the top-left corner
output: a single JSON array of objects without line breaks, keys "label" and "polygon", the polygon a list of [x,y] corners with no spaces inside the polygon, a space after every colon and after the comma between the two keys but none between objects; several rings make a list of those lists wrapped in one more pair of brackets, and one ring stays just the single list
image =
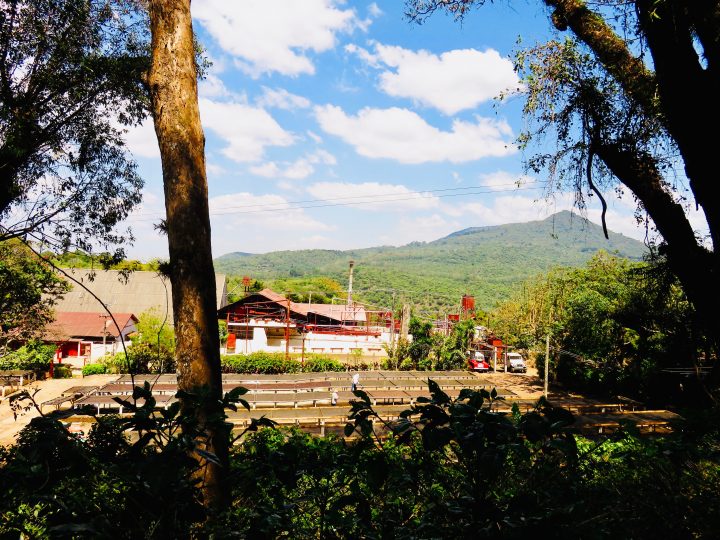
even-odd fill
[{"label": "whole leaning tree at upper right, dark limbs with wispy foliage", "polygon": [[[408,0],[422,20],[466,16],[486,0]],[[571,39],[518,55],[537,122],[521,141],[551,135],[556,152],[528,163],[578,193],[628,188],[663,237],[661,252],[720,345],[720,198],[714,133],[720,123],[720,2],[544,0],[549,21]],[[685,190],[687,179],[689,192]],[[687,200],[690,198],[691,200]],[[688,208],[701,208],[709,239]],[[714,370],[720,383],[720,363]]]}]

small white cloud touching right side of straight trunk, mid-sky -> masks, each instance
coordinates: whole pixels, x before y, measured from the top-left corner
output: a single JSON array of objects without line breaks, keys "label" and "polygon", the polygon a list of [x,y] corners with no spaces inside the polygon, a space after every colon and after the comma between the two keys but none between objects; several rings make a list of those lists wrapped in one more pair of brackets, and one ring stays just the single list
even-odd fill
[{"label": "small white cloud touching right side of straight trunk, mid-sky", "polygon": [[203,127],[225,141],[222,153],[233,161],[259,161],[266,146],[290,146],[295,141],[264,109],[201,99],[200,113]]}]

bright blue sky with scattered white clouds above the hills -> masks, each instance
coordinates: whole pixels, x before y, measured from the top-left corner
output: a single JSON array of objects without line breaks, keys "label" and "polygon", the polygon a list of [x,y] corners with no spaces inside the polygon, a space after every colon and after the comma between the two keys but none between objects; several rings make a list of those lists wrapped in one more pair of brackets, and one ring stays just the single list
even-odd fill
[{"label": "bright blue sky with scattered white clouds above the hills", "polygon": [[[509,2],[507,4],[510,4]],[[521,90],[510,57],[549,37],[534,2],[498,3],[460,24],[409,22],[403,2],[193,0],[213,62],[200,112],[213,255],[430,241],[572,208],[524,176],[514,145]],[[151,121],[127,133],[146,179],[128,223],[133,258],[166,257]],[[643,238],[629,197],[610,229]],[[599,208],[587,216],[599,221]]]}]

